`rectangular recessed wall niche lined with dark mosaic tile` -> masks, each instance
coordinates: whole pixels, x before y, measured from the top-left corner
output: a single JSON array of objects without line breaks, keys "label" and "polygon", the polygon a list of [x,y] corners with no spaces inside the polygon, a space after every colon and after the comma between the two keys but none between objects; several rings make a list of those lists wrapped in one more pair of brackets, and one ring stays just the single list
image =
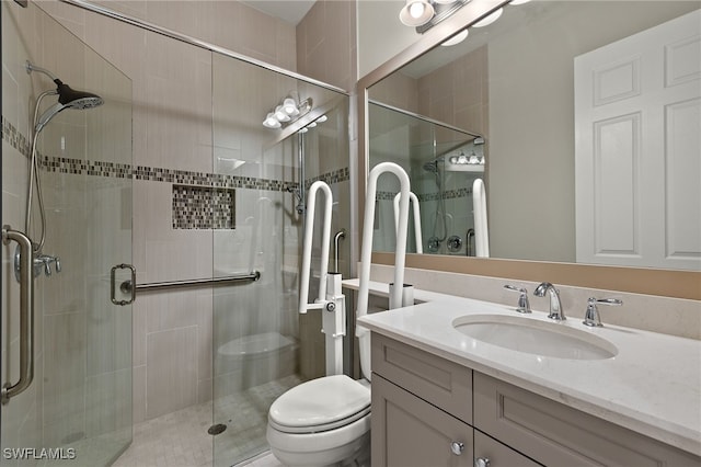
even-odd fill
[{"label": "rectangular recessed wall niche lined with dark mosaic tile", "polygon": [[173,185],[173,229],[233,229],[235,191]]}]

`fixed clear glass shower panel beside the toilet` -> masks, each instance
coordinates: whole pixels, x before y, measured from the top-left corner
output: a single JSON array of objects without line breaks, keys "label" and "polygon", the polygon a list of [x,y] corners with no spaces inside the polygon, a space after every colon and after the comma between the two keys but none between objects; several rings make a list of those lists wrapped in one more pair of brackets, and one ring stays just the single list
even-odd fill
[{"label": "fixed clear glass shower panel beside the toilet", "polygon": [[[285,99],[299,115],[264,126]],[[261,273],[253,284],[214,292],[215,466],[267,451],[272,402],[323,375],[321,315],[298,312],[303,189],[327,181],[333,231],[349,230],[347,103],[321,86],[212,54],[214,170],[219,197],[232,201],[229,224],[214,230],[214,275]]]}]

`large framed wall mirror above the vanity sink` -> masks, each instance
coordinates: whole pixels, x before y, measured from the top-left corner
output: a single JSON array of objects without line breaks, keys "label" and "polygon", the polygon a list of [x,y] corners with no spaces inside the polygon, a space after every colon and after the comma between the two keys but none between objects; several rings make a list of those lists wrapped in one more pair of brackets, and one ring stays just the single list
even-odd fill
[{"label": "large framed wall mirror above the vanity sink", "polygon": [[[423,252],[469,254],[474,224],[466,213],[472,212],[471,187],[479,175],[486,185],[492,258],[699,271],[699,7],[698,1],[505,5],[498,21],[470,27],[459,45],[435,47],[371,83],[368,167],[392,160],[410,173],[422,208]],[[696,38],[654,36],[657,25],[694,11]],[[651,31],[656,46],[627,48]],[[652,48],[660,55],[647,69],[644,56],[631,62],[610,58],[606,50],[611,47],[623,47],[628,56]],[[604,58],[590,61],[599,50]],[[621,66],[607,68],[610,64]],[[671,133],[656,138],[677,146],[662,143],[651,149],[665,153],[659,162],[640,159],[652,146],[646,122],[620,119],[639,112],[625,106],[630,100],[623,94],[634,94],[625,87],[637,86],[639,76],[650,78],[640,73],[658,75],[667,84],[677,73],[673,87],[697,93],[663,104],[662,125]],[[629,75],[633,78],[627,82]],[[589,89],[602,93],[600,102],[590,105],[596,96],[586,94]],[[607,99],[618,109],[596,114]],[[473,145],[475,138],[484,144]],[[582,147],[585,139],[598,146]],[[469,160],[475,148],[473,159],[484,162],[482,171],[447,169],[451,157],[462,152]],[[377,201],[376,229],[388,231],[380,226],[392,221],[392,186],[378,191],[384,194]],[[655,247],[658,258],[648,260],[642,257],[653,230],[660,244]],[[453,236],[462,248],[450,251]],[[393,251],[393,242],[382,237],[376,251]],[[428,248],[432,238],[440,240],[438,248]]]}]

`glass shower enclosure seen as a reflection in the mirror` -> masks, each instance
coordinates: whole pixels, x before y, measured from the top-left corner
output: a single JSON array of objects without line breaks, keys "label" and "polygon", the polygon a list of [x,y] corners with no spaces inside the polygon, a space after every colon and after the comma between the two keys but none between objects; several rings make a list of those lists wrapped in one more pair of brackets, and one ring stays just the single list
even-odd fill
[{"label": "glass shower enclosure seen as a reflection in the mirror", "polygon": [[[484,138],[379,102],[369,102],[368,110],[369,166],[391,161],[409,173],[421,205],[423,252],[474,255],[472,184],[485,176]],[[378,183],[376,229],[392,232],[399,185],[383,178]],[[411,228],[409,236],[407,251],[415,252]],[[372,241],[374,251],[394,251],[393,235],[376,235]]]}]

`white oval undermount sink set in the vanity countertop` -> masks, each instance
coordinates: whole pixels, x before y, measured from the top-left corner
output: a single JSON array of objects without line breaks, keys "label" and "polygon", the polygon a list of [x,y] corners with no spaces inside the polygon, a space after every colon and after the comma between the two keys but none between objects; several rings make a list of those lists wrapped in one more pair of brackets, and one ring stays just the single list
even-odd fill
[{"label": "white oval undermount sink set in the vanity countertop", "polygon": [[559,322],[506,315],[468,315],[452,327],[492,345],[554,358],[605,360],[618,354],[611,342]]}]

